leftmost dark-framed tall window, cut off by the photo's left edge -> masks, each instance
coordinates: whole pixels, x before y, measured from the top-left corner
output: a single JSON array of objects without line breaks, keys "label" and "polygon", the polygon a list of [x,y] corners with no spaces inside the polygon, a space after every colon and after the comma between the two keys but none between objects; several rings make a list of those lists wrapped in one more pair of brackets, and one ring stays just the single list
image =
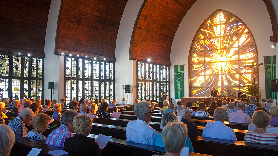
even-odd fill
[{"label": "leftmost dark-framed tall window, cut off by the photo's left edge", "polygon": [[44,58],[0,54],[0,98],[43,99]]}]

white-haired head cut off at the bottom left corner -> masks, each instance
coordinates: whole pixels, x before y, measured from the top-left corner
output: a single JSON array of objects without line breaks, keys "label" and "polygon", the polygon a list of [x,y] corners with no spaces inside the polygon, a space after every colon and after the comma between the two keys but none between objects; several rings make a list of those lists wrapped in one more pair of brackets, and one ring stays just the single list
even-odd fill
[{"label": "white-haired head cut off at the bottom left corner", "polygon": [[9,126],[0,124],[0,155],[9,156],[14,144],[14,131]]}]

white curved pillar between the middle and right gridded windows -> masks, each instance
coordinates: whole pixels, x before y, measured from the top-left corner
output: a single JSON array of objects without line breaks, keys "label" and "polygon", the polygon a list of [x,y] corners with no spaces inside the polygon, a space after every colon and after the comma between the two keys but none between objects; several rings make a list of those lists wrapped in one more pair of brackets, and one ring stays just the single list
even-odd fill
[{"label": "white curved pillar between the middle and right gridded windows", "polygon": [[118,100],[117,103],[120,103],[123,97],[127,99],[127,93],[124,93],[122,85],[131,85],[129,104],[132,104],[136,98],[134,96],[136,95],[136,86],[133,85],[133,60],[129,60],[128,57],[133,26],[143,2],[144,0],[128,0],[121,18],[115,52],[115,97]]}]

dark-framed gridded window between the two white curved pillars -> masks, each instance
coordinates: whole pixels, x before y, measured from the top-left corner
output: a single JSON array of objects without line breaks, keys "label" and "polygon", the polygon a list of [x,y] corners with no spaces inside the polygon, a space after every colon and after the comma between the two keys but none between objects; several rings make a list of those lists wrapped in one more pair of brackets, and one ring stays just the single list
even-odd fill
[{"label": "dark-framed gridded window between the two white curved pillars", "polygon": [[81,97],[106,99],[115,97],[115,63],[80,57],[65,57],[66,103]]}]

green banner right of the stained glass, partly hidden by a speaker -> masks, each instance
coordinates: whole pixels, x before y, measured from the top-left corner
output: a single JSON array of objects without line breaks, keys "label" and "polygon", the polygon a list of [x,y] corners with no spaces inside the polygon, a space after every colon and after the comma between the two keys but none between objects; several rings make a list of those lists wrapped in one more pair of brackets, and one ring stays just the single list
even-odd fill
[{"label": "green banner right of the stained glass, partly hidden by a speaker", "polygon": [[265,96],[266,99],[275,99],[276,93],[270,91],[270,80],[276,79],[276,56],[264,57]]}]

